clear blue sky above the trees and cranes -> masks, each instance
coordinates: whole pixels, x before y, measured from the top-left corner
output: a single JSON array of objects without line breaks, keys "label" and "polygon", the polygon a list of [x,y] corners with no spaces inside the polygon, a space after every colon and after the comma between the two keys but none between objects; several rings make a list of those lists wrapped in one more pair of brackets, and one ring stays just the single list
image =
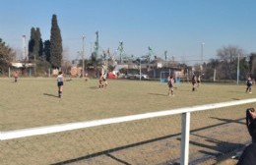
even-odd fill
[{"label": "clear blue sky above the trees and cranes", "polygon": [[[157,56],[197,63],[217,58],[217,49],[234,45],[256,52],[255,0],[1,0],[0,37],[22,51],[22,35],[29,41],[39,27],[50,38],[51,18],[57,15],[63,47],[69,59],[78,57],[85,35],[88,58],[99,31],[99,45],[113,53],[123,41],[127,55]],[[28,43],[27,43],[28,44]]]}]

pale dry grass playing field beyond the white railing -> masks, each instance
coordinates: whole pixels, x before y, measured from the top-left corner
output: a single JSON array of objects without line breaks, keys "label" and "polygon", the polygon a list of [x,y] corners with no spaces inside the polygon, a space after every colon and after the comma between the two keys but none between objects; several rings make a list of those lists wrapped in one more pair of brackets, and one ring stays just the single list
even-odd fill
[{"label": "pale dry grass playing field beyond the white railing", "polygon": [[[253,97],[245,85],[203,83],[192,92],[191,83],[180,83],[175,96],[167,96],[166,83],[108,80],[98,89],[97,80],[64,83],[57,97],[53,79],[0,80],[1,131],[89,121]],[[253,90],[252,90],[253,91]]]}]

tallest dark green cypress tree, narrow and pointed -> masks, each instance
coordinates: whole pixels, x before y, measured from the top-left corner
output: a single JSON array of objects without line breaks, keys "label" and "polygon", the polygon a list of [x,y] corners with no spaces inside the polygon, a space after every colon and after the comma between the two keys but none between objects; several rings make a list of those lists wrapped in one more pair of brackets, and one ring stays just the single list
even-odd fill
[{"label": "tallest dark green cypress tree, narrow and pointed", "polygon": [[62,39],[57,16],[52,15],[50,34],[50,63],[53,68],[59,69],[62,61]]}]

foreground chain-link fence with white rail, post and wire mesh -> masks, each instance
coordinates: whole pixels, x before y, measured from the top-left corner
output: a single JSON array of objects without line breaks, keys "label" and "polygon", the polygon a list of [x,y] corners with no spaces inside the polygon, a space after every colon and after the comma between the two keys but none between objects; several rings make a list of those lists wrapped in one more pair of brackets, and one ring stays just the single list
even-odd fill
[{"label": "foreground chain-link fence with white rail, post and wire mesh", "polygon": [[250,141],[244,118],[255,102],[4,131],[0,164],[214,164]]}]

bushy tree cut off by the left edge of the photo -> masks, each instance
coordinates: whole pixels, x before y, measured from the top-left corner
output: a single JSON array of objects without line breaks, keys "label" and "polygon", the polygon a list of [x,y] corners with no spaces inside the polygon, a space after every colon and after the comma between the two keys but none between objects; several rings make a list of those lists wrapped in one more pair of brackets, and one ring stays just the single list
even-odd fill
[{"label": "bushy tree cut off by the left edge of the photo", "polygon": [[0,73],[8,72],[15,57],[15,52],[0,38]]}]

